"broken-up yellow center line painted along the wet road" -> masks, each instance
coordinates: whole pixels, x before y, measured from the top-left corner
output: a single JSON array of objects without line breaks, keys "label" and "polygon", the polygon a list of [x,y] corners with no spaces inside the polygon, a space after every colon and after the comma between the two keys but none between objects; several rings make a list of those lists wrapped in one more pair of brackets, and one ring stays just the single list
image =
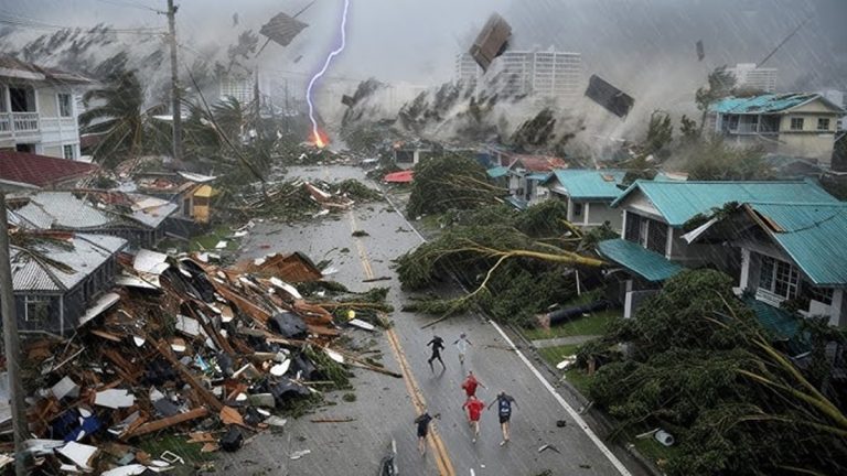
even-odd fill
[{"label": "broken-up yellow center line painted along the wet road", "polygon": [[[357,229],[356,217],[353,215],[353,212],[350,212],[349,216],[351,229],[352,231],[355,231]],[[367,250],[365,249],[365,246],[360,238],[356,238],[355,242],[356,250],[358,251],[358,259],[362,261],[362,269],[365,273],[365,278],[373,279],[375,275],[373,268],[371,268],[371,260],[367,257]],[[420,387],[418,387],[417,381],[415,381],[415,376],[411,374],[411,368],[409,367],[408,360],[406,360],[406,354],[403,351],[400,340],[397,338],[397,333],[393,327],[389,327],[385,332],[385,335],[388,338],[388,345],[394,351],[394,357],[397,359],[397,364],[400,366],[403,381],[406,383],[406,390],[408,391],[409,397],[411,397],[411,402],[415,405],[416,414],[418,414],[427,408],[427,402],[424,399],[424,392],[420,391]],[[441,476],[455,476],[453,463],[450,461],[450,455],[447,453],[444,442],[438,434],[438,430],[436,429],[435,423],[430,428],[430,432],[427,436],[427,443],[429,444],[432,453],[436,455],[436,467],[438,468],[438,474]]]}]

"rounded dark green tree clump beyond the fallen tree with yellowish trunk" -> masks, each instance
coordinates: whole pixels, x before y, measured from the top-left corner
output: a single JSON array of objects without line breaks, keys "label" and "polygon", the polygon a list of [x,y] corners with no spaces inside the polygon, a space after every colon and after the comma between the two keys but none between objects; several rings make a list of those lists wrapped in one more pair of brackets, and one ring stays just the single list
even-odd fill
[{"label": "rounded dark green tree clump beyond the fallen tree with yellowish trunk", "polygon": [[451,208],[479,208],[497,203],[504,192],[487,182],[485,169],[473,159],[458,154],[435,156],[415,165],[406,212],[417,217]]}]

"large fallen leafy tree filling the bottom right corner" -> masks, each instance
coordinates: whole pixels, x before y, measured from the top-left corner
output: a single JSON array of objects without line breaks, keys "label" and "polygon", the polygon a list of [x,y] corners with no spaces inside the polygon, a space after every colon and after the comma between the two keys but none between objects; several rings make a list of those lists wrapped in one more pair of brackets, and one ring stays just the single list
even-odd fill
[{"label": "large fallen leafy tree filling the bottom right corner", "polygon": [[[629,358],[618,343],[628,343]],[[730,277],[684,271],[634,318],[583,346],[578,365],[600,365],[589,393],[619,430],[675,435],[668,475],[845,474],[838,393],[778,347],[733,295]]]}]

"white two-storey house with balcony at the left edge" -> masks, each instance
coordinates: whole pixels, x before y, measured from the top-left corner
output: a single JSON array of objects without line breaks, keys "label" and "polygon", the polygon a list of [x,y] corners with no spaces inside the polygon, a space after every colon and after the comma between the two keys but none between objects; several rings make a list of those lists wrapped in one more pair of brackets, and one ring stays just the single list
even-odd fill
[{"label": "white two-storey house with balcony at the left edge", "polygon": [[82,76],[0,56],[0,149],[76,160]]}]

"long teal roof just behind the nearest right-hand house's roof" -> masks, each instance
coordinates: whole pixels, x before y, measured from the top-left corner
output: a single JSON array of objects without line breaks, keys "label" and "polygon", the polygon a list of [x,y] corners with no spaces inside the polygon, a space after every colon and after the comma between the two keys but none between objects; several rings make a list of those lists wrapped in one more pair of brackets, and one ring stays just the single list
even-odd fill
[{"label": "long teal roof just behind the nearest right-hand house's roof", "polygon": [[672,182],[637,180],[612,206],[641,191],[671,226],[679,227],[697,214],[709,214],[729,202],[840,203],[811,180],[791,182]]}]

